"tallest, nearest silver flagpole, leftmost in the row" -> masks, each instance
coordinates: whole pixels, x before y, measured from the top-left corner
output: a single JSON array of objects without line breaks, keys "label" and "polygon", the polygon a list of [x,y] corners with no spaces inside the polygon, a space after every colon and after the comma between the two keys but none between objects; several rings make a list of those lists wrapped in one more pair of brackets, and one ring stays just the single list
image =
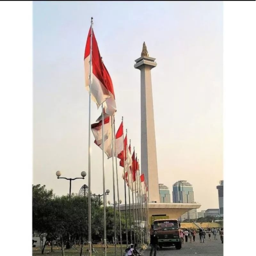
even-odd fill
[{"label": "tallest, nearest silver flagpole, leftmost in the row", "polygon": [[92,96],[92,22],[91,18],[91,32],[90,32],[90,73],[89,73],[89,131],[88,131],[88,245],[89,256],[92,255],[92,234],[91,234],[91,96]]}]

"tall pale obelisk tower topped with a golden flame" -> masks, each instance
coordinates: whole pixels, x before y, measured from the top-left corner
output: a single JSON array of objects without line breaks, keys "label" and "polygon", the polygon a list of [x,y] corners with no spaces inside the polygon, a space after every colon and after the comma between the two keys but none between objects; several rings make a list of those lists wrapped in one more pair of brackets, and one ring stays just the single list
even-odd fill
[{"label": "tall pale obelisk tower topped with a golden flame", "polygon": [[134,68],[140,69],[141,170],[146,176],[149,202],[159,203],[156,136],[151,84],[151,69],[156,67],[155,60],[155,58],[149,57],[144,42],[141,57],[135,60]]}]

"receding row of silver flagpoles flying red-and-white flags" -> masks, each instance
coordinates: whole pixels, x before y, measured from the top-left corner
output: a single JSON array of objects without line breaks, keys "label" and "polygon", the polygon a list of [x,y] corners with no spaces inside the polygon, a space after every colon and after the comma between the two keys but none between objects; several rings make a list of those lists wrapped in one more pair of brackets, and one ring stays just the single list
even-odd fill
[{"label": "receding row of silver flagpoles flying red-and-white flags", "polygon": [[[122,250],[122,223],[119,198],[119,183],[117,158],[120,166],[124,168],[124,196],[125,196],[125,235],[126,246],[128,246],[128,204],[127,188],[129,199],[129,225],[131,243],[144,243],[149,239],[149,209],[148,209],[148,189],[144,173],[140,174],[140,165],[135,159],[135,149],[131,156],[131,140],[128,147],[127,129],[124,138],[123,117],[121,125],[116,133],[115,129],[115,94],[111,77],[103,64],[98,44],[93,33],[93,18],[87,37],[84,53],[85,68],[85,87],[89,91],[89,135],[88,135],[88,246],[89,256],[92,255],[92,233],[91,233],[91,130],[95,137],[94,143],[102,149],[102,179],[103,179],[103,218],[104,218],[104,254],[107,255],[106,238],[106,193],[105,193],[105,154],[108,159],[112,157],[112,176],[113,176],[113,200],[114,200],[114,244],[116,255],[116,194],[118,199],[118,220],[119,220],[119,240],[120,252]],[[88,65],[89,64],[89,65]],[[89,79],[88,79],[89,78]],[[91,124],[91,100],[95,101],[98,108],[101,106],[101,116],[97,119],[98,123]],[[96,121],[96,122],[97,122]],[[105,127],[107,125],[107,127]],[[120,140],[122,138],[122,140]],[[118,140],[119,139],[119,140]],[[117,145],[118,140],[118,145]],[[115,160],[114,160],[115,157]],[[139,160],[139,159],[138,159]],[[116,170],[115,170],[116,167]],[[116,172],[115,172],[116,171]],[[116,176],[116,182],[115,182]],[[115,186],[116,184],[116,186]],[[132,195],[131,195],[132,193]],[[135,198],[134,198],[135,197]],[[131,206],[132,200],[132,206]],[[135,205],[134,205],[135,201]],[[132,208],[132,209],[131,209]],[[133,226],[133,232],[132,232]]]}]

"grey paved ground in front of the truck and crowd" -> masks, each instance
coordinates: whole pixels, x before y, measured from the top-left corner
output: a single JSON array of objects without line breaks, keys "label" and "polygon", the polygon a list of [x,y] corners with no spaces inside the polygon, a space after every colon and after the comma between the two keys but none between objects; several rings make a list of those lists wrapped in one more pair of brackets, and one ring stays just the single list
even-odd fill
[{"label": "grey paved ground in front of the truck and crowd", "polygon": [[[184,243],[180,250],[176,250],[175,247],[159,249],[156,256],[169,256],[169,255],[197,255],[197,256],[223,256],[223,244],[220,239],[218,240],[206,240],[205,243],[199,242],[199,237],[196,237],[196,242]],[[206,237],[207,238],[207,237]],[[148,246],[144,252],[144,256],[149,256],[151,247]],[[153,255],[154,256],[154,253]]]}]

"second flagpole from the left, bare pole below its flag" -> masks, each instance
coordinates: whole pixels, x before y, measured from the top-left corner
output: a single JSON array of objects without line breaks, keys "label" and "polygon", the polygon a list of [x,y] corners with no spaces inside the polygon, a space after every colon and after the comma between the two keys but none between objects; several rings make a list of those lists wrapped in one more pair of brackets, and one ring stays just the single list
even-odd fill
[{"label": "second flagpole from the left, bare pole below its flag", "polygon": [[105,193],[105,132],[104,132],[104,109],[102,108],[102,177],[103,177],[103,218],[104,218],[104,254],[107,256],[107,230],[106,230],[106,193]]}]

